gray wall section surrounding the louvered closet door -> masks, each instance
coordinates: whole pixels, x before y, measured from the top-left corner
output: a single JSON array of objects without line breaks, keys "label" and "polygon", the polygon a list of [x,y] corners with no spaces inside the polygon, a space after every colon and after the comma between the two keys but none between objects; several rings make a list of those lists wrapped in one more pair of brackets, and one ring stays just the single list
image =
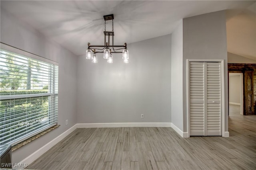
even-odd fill
[{"label": "gray wall section surrounding the louvered closet door", "polygon": [[228,131],[228,59],[225,11],[183,20],[183,102],[184,131],[187,131],[187,59],[224,59],[225,131]]}]

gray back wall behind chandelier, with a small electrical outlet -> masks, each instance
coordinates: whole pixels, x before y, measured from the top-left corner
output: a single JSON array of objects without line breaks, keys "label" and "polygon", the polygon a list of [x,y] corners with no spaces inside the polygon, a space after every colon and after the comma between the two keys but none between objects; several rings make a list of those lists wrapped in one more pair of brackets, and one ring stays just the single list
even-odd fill
[{"label": "gray back wall behind chandelier, with a small electrical outlet", "polygon": [[164,35],[128,44],[129,64],[78,57],[77,123],[171,122],[170,47]]}]

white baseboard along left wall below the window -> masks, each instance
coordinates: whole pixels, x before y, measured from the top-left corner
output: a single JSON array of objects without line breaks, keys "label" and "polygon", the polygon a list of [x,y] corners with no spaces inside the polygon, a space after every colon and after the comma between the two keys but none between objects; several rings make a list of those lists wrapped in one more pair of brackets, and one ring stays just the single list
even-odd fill
[{"label": "white baseboard along left wall below the window", "polygon": [[[28,157],[23,159],[19,162],[19,164],[31,164],[34,162],[37,158],[39,158],[42,154],[44,154],[46,151],[51,149],[54,145],[56,145],[58,142],[60,142],[62,139],[64,139],[66,136],[68,136],[72,131],[74,131],[77,128],[77,124],[70,127],[68,130],[64,131],[62,134],[60,134],[58,137],[52,139],[52,141],[48,142],[46,145],[41,147],[40,149],[36,150],[34,153],[30,154]],[[21,167],[18,167],[18,169],[21,169]]]}]

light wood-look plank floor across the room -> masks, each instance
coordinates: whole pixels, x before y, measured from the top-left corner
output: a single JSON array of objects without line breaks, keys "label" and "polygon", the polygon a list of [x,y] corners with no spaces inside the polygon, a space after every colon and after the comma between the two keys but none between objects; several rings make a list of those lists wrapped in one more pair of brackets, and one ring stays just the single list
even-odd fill
[{"label": "light wood-look plank floor across the room", "polygon": [[180,137],[168,127],[76,129],[27,169],[255,170],[256,115],[230,107],[230,137]]}]

